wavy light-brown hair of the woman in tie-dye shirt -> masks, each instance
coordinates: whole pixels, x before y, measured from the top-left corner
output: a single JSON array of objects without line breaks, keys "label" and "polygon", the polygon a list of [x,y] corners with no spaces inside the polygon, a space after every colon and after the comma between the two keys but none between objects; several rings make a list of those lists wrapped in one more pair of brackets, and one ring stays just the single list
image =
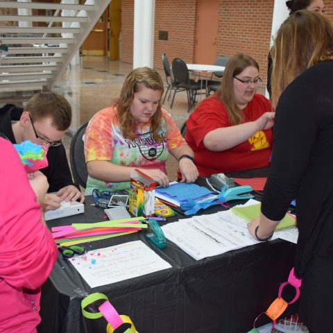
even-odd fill
[{"label": "wavy light-brown hair of the woman in tie-dye shirt", "polygon": [[[115,103],[119,114],[119,123],[123,137],[127,139],[135,139],[135,119],[130,113],[130,106],[132,105],[134,94],[142,87],[148,89],[159,90],[162,94],[164,85],[160,74],[149,67],[139,67],[134,69],[128,74],[123,87],[121,88],[119,100]],[[161,142],[163,137],[158,135],[158,130],[162,122],[162,101],[159,101],[157,110],[151,118],[151,136],[157,142]]]}]

